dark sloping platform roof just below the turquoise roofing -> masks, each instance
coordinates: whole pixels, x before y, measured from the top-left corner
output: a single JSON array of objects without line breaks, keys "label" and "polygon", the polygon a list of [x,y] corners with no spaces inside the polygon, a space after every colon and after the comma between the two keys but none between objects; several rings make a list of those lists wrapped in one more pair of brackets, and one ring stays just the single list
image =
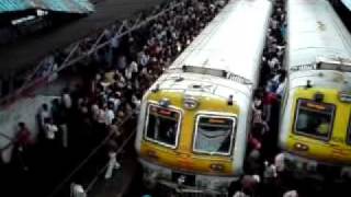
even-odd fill
[{"label": "dark sloping platform roof just below the turquoise roofing", "polygon": [[[7,1],[7,0],[0,0]],[[33,67],[56,48],[75,43],[101,30],[115,20],[131,18],[135,12],[151,8],[166,0],[99,0],[95,12],[70,22],[43,35],[18,40],[10,46],[0,46],[0,77]]]}]

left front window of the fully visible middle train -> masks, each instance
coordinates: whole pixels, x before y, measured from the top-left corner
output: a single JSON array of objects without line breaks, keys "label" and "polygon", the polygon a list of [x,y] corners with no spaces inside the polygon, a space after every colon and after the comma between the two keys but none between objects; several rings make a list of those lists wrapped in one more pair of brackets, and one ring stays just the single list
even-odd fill
[{"label": "left front window of the fully visible middle train", "polygon": [[150,104],[146,119],[146,139],[174,148],[179,132],[180,113],[170,107]]}]

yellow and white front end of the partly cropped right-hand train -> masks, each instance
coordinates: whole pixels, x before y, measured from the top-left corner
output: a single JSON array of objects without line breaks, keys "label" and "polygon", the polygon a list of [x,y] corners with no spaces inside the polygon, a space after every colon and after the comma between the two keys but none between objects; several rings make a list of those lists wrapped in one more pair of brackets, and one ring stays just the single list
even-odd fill
[{"label": "yellow and white front end of the partly cropped right-hand train", "polygon": [[[320,61],[291,71],[280,143],[298,175],[351,177],[351,62]],[[321,177],[322,177],[321,176]]]}]

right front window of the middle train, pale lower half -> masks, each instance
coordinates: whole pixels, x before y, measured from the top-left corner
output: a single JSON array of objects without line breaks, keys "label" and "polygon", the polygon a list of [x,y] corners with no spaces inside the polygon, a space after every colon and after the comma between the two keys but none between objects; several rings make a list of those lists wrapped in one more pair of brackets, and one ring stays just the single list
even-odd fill
[{"label": "right front window of the middle train, pale lower half", "polygon": [[200,115],[196,120],[193,149],[199,153],[230,154],[236,119]]}]

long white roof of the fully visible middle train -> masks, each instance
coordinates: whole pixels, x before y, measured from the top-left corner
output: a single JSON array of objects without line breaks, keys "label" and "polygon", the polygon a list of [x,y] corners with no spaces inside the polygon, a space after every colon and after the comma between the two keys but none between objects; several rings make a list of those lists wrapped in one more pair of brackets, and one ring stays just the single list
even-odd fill
[{"label": "long white roof of the fully visible middle train", "polygon": [[271,9],[268,0],[229,1],[170,71],[184,67],[193,71],[211,69],[231,73],[245,83],[256,83]]}]

